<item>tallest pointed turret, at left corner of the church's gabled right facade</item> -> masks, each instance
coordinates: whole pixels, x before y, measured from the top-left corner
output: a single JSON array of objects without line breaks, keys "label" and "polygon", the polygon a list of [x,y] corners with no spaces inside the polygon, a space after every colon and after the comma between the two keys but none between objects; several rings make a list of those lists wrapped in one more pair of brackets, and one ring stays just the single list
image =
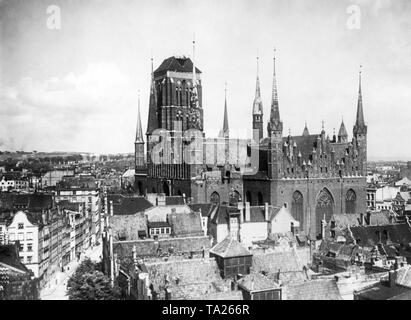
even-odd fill
[{"label": "tallest pointed turret, at left corner of the church's gabled right facade", "polygon": [[280,179],[283,175],[283,122],[280,119],[278,106],[277,80],[275,73],[275,49],[274,49],[273,89],[271,98],[270,120],[267,125],[269,137],[269,176],[271,179]]}]

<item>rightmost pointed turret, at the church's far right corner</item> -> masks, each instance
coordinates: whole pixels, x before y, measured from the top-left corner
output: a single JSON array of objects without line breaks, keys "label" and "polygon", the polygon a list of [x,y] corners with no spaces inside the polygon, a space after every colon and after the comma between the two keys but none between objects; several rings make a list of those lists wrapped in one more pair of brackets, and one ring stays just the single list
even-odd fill
[{"label": "rightmost pointed turret, at the church's far right corner", "polygon": [[357,103],[357,117],[353,129],[354,147],[358,152],[358,160],[356,171],[361,175],[367,174],[367,126],[364,121],[364,111],[362,106],[362,92],[361,92],[361,66],[359,72],[359,89],[358,89],[358,103]]}]

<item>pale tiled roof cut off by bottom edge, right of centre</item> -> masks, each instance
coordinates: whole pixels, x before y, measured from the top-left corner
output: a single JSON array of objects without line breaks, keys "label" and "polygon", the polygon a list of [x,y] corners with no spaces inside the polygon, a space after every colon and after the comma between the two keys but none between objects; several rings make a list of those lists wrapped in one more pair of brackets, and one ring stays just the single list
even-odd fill
[{"label": "pale tiled roof cut off by bottom edge, right of centre", "polygon": [[293,283],[286,290],[287,300],[342,300],[334,279]]}]

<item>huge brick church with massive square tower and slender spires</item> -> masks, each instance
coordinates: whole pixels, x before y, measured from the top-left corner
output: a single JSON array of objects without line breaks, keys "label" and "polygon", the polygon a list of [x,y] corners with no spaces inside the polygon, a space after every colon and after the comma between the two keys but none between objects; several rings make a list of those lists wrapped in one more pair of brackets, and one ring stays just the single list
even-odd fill
[{"label": "huge brick church with massive square tower and slender spires", "polygon": [[[194,47],[194,46],[193,46]],[[260,81],[250,108],[253,137],[232,139],[227,103],[219,137],[205,137],[201,71],[187,57],[169,57],[157,69],[151,61],[146,142],[137,117],[135,186],[140,195],[165,193],[191,203],[287,206],[300,230],[313,236],[333,214],[366,211],[367,125],[361,71],[353,137],[342,121],[338,135],[324,128],[285,135],[280,117],[275,53],[271,110],[264,135]],[[258,66],[258,58],[257,58]],[[197,141],[197,142],[196,142]],[[201,143],[198,143],[200,141]],[[253,161],[253,154],[258,161]],[[252,169],[245,174],[244,168]]]}]

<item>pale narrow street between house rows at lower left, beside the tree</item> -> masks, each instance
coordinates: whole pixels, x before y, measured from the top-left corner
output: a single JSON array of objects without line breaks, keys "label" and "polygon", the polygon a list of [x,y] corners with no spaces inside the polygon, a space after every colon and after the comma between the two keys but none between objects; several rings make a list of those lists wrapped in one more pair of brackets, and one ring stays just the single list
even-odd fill
[{"label": "pale narrow street between house rows at lower left, beside the tree", "polygon": [[[90,258],[92,261],[100,261],[100,256],[102,256],[102,246],[101,243],[95,246],[93,249],[89,249],[81,257],[80,261],[71,261],[66,265],[64,272],[57,272],[54,277],[50,280],[49,285],[40,292],[41,300],[68,300],[66,295],[67,281],[70,276],[76,271],[80,263],[86,259]],[[50,286],[50,287],[49,287]]]}]

